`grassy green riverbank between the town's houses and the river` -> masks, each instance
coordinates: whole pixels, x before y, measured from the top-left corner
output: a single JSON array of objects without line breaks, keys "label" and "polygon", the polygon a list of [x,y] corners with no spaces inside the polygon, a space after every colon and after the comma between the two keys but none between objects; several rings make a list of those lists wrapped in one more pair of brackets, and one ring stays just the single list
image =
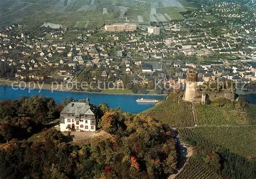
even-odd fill
[{"label": "grassy green riverbank between the town's houses and the river", "polygon": [[[17,85],[19,84],[19,85]],[[22,82],[19,83],[18,81],[10,81],[10,80],[3,80],[0,79],[0,86],[9,86],[12,87],[14,90],[19,88],[19,89],[28,89],[29,91],[31,90],[48,90],[51,91],[52,93],[54,91],[59,91],[59,92],[76,92],[76,93],[88,93],[88,94],[111,94],[111,95],[145,95],[145,96],[166,96],[167,94],[156,94],[153,93],[152,90],[148,91],[146,94],[138,94],[138,93],[132,93],[132,90],[129,89],[104,89],[103,92],[89,92],[89,91],[79,91],[79,90],[70,90],[69,86],[66,85],[56,85],[56,84],[47,84],[47,83],[35,83],[30,84],[28,82]],[[113,91],[113,92],[111,92]],[[39,91],[40,92],[40,91]]]}]

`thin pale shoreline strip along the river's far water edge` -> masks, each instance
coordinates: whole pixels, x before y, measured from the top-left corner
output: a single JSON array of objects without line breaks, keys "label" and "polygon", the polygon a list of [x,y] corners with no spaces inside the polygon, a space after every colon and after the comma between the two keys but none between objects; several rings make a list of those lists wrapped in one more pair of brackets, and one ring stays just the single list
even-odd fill
[{"label": "thin pale shoreline strip along the river's far water edge", "polygon": [[[10,84],[3,84],[0,82],[0,86],[8,86],[8,87],[12,87],[12,85]],[[19,87],[18,85],[13,85],[13,87]],[[42,87],[37,88],[35,87],[34,89],[29,88],[29,87],[24,87],[21,90],[46,90],[46,91],[52,91],[52,93],[54,92],[74,92],[74,93],[88,93],[88,94],[105,94],[105,95],[131,95],[131,96],[141,96],[141,95],[145,95],[145,96],[166,96],[167,94],[142,94],[142,93],[109,93],[109,92],[89,92],[89,91],[77,91],[77,90],[59,90],[59,89],[49,89],[49,88],[44,88]]]}]

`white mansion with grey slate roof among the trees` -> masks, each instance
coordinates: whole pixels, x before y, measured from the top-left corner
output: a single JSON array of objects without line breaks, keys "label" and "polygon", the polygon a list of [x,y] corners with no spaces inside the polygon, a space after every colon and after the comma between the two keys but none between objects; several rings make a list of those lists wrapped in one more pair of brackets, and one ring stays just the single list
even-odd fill
[{"label": "white mansion with grey slate roof among the trees", "polygon": [[60,112],[60,131],[90,131],[96,130],[94,109],[90,106],[90,100],[86,103],[71,102]]}]

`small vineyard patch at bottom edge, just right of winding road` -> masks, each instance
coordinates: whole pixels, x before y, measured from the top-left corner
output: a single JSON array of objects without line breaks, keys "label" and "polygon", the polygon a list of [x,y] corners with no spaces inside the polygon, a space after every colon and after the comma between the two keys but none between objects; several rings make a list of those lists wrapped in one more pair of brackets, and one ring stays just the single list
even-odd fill
[{"label": "small vineyard patch at bottom edge, just right of winding road", "polygon": [[176,179],[194,179],[194,178],[219,178],[218,174],[208,169],[204,165],[197,162],[195,159],[190,158],[184,170],[179,173]]}]

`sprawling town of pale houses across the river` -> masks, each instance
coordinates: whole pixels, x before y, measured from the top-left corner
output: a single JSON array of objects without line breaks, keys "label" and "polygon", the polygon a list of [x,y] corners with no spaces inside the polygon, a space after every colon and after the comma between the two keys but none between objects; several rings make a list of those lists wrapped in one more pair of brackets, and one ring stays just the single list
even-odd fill
[{"label": "sprawling town of pale houses across the river", "polygon": [[[216,4],[212,13],[244,19],[230,15],[229,9],[220,11],[223,6],[227,4]],[[225,11],[229,14],[224,16]],[[217,79],[254,84],[255,18],[225,23],[203,6],[189,16],[208,20],[106,24],[92,30],[44,23],[28,31],[26,24],[11,24],[0,31],[1,77],[49,84],[113,82],[117,90],[74,90],[161,94],[168,91],[154,81],[170,87],[185,84],[186,71],[195,68],[198,85]]]}]

